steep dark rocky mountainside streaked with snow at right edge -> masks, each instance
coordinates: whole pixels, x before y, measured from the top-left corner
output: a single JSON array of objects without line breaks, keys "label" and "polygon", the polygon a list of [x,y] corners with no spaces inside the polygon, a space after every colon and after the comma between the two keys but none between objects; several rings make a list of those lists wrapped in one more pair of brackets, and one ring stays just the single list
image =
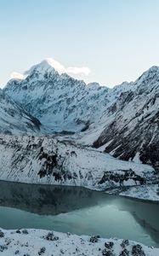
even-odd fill
[{"label": "steep dark rocky mountainside streaked with snow at right edge", "polygon": [[159,169],[159,67],[134,82],[136,90],[107,109],[105,129],[94,142],[124,160],[142,161]]}]

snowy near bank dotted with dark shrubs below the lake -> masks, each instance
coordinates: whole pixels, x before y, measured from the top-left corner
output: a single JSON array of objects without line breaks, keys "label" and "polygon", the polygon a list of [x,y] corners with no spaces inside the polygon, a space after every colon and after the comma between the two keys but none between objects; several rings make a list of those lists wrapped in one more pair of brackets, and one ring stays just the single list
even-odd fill
[{"label": "snowy near bank dotted with dark shrubs below the lake", "polygon": [[158,256],[159,249],[99,236],[76,236],[48,230],[0,230],[0,255]]}]

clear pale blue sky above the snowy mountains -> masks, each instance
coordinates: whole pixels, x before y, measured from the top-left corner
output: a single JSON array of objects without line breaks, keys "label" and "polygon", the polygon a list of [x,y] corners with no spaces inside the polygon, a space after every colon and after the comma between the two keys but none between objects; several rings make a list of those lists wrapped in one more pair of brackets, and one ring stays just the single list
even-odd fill
[{"label": "clear pale blue sky above the snowy mountains", "polygon": [[0,0],[0,86],[48,57],[87,82],[137,79],[159,66],[159,1]]}]

